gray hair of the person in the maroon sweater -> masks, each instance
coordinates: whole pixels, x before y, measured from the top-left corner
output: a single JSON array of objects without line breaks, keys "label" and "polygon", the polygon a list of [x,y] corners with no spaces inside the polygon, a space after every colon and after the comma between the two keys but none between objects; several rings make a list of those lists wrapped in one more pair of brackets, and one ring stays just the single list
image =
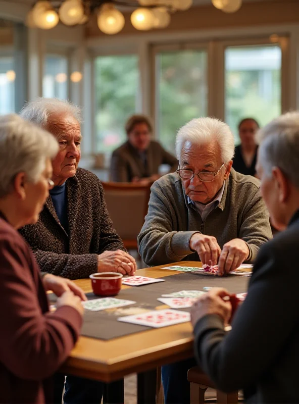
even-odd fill
[{"label": "gray hair of the person in the maroon sweater", "polygon": [[16,114],[0,116],[0,197],[10,192],[20,172],[25,172],[30,182],[38,181],[46,158],[54,158],[58,149],[51,133]]}]

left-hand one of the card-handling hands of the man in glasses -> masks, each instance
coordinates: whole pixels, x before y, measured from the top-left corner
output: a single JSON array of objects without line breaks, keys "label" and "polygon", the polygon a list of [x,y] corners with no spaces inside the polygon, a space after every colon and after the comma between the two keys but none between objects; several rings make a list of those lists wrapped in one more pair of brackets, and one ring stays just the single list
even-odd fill
[{"label": "left-hand one of the card-handling hands of the man in glasses", "polygon": [[215,237],[194,233],[189,241],[191,249],[197,252],[203,264],[217,265],[221,248]]}]

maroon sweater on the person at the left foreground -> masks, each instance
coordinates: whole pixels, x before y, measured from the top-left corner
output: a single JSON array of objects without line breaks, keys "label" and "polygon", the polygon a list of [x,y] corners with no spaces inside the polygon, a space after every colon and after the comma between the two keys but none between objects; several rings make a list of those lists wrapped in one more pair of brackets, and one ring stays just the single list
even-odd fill
[{"label": "maroon sweater on the person at the left foreground", "polygon": [[49,403],[51,376],[67,359],[82,319],[72,307],[49,313],[39,267],[0,213],[0,402]]}]

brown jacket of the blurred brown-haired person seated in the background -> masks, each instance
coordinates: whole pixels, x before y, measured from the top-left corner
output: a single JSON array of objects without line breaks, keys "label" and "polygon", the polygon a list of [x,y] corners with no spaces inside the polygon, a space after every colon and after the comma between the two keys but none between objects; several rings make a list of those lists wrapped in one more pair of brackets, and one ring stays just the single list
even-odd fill
[{"label": "brown jacket of the blurred brown-haired person seated in the background", "polygon": [[159,173],[161,164],[171,166],[170,171],[178,168],[177,159],[157,141],[152,140],[145,153],[147,167],[144,167],[138,151],[128,141],[123,143],[112,154],[110,180],[131,182],[134,177],[151,177],[151,175]]}]

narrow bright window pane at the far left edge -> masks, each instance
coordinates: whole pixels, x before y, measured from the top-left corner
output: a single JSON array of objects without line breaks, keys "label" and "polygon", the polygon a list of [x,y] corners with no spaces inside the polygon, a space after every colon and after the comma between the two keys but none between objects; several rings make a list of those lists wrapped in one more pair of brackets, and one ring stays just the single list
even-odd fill
[{"label": "narrow bright window pane at the far left edge", "polygon": [[15,112],[15,79],[13,56],[0,56],[0,115]]}]

